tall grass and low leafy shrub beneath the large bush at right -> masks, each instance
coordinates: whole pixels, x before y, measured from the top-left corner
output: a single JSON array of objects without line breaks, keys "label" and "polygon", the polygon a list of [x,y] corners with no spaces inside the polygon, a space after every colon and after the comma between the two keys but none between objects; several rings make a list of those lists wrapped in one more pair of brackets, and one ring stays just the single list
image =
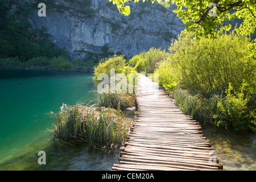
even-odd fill
[{"label": "tall grass and low leafy shrub beneath the large bush at right", "polygon": [[212,125],[233,131],[256,131],[255,96],[243,92],[212,92],[207,96],[190,94],[188,90],[175,89],[174,101],[185,114],[191,115],[201,125]]}]

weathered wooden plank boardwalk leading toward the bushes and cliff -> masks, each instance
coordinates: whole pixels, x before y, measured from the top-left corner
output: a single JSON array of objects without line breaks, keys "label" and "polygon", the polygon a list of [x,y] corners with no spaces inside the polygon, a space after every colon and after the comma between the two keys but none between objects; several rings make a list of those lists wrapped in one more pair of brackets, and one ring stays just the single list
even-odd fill
[{"label": "weathered wooden plank boardwalk leading toward the bushes and cliff", "polygon": [[198,122],[182,113],[159,85],[141,76],[138,117],[112,170],[221,170]]}]

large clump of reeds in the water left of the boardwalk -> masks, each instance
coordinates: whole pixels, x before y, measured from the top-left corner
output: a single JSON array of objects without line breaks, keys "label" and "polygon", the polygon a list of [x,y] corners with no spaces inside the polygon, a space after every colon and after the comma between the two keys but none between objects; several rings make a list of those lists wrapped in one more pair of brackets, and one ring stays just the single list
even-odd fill
[{"label": "large clump of reeds in the water left of the boardwalk", "polygon": [[63,104],[54,116],[53,132],[57,142],[86,141],[100,148],[121,147],[133,123],[133,119],[124,117],[119,104],[117,110]]}]

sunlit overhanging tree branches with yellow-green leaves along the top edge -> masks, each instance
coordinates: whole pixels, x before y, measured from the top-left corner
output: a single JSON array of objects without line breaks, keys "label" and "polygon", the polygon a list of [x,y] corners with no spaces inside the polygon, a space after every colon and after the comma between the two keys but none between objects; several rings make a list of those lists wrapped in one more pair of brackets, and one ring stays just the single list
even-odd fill
[{"label": "sunlit overhanging tree branches with yellow-green leaves along the top edge", "polygon": [[[126,2],[139,2],[139,0],[109,1],[125,15],[130,14],[130,7],[125,5]],[[151,2],[154,3],[155,0]],[[241,34],[250,35],[255,32],[256,0],[165,0],[165,2],[176,4],[177,9],[174,12],[183,21],[187,30],[197,32],[197,36],[214,36],[217,27],[230,30],[231,24],[224,22],[233,19],[243,19],[236,29]]]}]

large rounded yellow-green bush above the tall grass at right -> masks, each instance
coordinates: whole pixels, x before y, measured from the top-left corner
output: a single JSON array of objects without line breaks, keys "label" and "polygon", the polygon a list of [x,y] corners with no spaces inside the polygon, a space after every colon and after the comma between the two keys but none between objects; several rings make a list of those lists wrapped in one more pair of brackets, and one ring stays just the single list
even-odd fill
[{"label": "large rounded yellow-green bush above the tall grass at right", "polygon": [[179,85],[197,92],[227,89],[231,83],[239,89],[243,80],[255,84],[255,60],[245,52],[250,39],[234,34],[217,35],[216,39],[193,38],[185,33],[171,44],[168,61],[179,75]]}]

